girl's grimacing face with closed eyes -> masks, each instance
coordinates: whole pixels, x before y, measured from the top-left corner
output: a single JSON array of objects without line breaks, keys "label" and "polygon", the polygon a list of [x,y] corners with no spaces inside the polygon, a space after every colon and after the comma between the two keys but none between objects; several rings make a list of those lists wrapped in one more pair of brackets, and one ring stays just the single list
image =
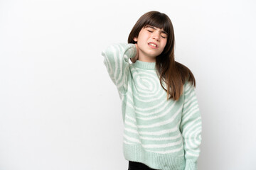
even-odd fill
[{"label": "girl's grimacing face with closed eyes", "polygon": [[[137,38],[134,38],[139,48],[139,58],[149,58],[160,55],[167,42],[167,33],[163,29],[146,26],[140,30]],[[152,60],[152,59],[149,59]]]}]

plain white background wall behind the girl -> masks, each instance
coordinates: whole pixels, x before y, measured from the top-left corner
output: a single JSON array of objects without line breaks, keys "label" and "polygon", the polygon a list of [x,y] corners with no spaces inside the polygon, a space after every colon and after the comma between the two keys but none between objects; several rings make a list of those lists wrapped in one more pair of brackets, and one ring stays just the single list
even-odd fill
[{"label": "plain white background wall behind the girl", "polygon": [[0,169],[127,169],[101,51],[147,11],[174,25],[196,77],[201,170],[256,169],[253,0],[0,1]]}]

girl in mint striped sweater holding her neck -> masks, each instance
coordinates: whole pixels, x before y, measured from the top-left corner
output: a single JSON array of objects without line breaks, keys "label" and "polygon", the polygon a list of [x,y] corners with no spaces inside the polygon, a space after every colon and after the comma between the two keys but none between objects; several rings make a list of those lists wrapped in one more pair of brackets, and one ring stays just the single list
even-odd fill
[{"label": "girl in mint striped sweater holding her neck", "polygon": [[128,43],[110,45],[102,55],[122,101],[129,170],[197,169],[202,128],[196,80],[174,60],[170,18],[145,13]]}]

